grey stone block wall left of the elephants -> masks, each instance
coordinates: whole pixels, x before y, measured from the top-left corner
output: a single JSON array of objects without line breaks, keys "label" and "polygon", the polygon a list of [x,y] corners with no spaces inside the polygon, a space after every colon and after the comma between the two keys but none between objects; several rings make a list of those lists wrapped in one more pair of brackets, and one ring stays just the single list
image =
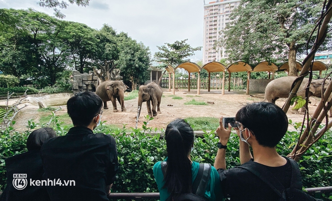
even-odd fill
[{"label": "grey stone block wall left of the elephants", "polygon": [[77,70],[72,71],[72,90],[78,91],[96,91],[98,86],[98,77],[91,70],[89,73],[79,73]]}]

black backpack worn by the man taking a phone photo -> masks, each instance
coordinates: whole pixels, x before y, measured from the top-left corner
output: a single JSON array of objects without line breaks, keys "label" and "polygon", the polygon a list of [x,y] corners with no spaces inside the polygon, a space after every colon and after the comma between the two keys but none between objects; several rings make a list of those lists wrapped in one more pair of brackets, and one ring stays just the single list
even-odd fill
[{"label": "black backpack worn by the man taking a phone photo", "polygon": [[280,201],[317,201],[317,199],[302,190],[301,174],[297,162],[287,157],[286,159],[291,164],[292,172],[291,184],[289,188],[285,188],[267,168],[254,161],[250,161],[236,167],[250,171],[258,176],[262,181],[268,184],[274,192],[277,193],[280,197]]}]

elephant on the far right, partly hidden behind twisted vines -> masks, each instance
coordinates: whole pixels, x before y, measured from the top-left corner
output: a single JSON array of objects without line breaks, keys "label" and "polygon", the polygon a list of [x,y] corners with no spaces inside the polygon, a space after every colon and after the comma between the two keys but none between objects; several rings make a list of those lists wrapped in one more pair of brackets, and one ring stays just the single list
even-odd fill
[{"label": "elephant on the far right, partly hidden behind twisted vines", "polygon": [[[297,77],[293,76],[287,76],[287,77],[280,77],[277,79],[272,80],[265,88],[265,99],[270,103],[276,103],[276,100],[279,97],[288,97],[289,93],[291,91],[291,86],[294,82],[294,80]],[[304,78],[297,93],[296,96],[302,96],[305,97],[305,88],[308,85],[309,78]],[[309,87],[309,93],[308,96],[311,95],[316,97],[321,97],[321,84],[323,82],[323,79],[313,79],[311,80],[310,87]],[[324,84],[324,90],[326,89],[328,85],[328,80],[325,81]],[[297,112],[297,110],[294,110],[292,112]],[[301,113],[304,112],[304,109],[302,108]]]}]

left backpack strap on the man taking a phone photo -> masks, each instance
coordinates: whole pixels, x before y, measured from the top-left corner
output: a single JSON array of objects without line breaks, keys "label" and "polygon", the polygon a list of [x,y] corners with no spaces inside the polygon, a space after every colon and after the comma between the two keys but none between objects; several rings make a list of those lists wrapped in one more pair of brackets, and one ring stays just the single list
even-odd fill
[{"label": "left backpack strap on the man taking a phone photo", "polygon": [[245,169],[255,174],[258,178],[270,186],[270,188],[277,193],[279,197],[286,200],[285,187],[276,179],[276,177],[264,166],[254,161],[249,161],[236,168]]}]

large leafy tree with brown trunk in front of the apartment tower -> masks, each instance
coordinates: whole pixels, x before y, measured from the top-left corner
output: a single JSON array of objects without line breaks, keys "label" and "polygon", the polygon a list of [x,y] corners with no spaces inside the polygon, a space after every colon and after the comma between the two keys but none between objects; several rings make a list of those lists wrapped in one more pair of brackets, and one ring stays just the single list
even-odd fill
[{"label": "large leafy tree with brown trunk in front of the apartment tower", "polygon": [[289,75],[297,76],[296,55],[305,53],[322,5],[322,0],[241,1],[230,14],[233,21],[220,32],[215,49],[225,47],[230,61],[252,64],[288,57]]}]

